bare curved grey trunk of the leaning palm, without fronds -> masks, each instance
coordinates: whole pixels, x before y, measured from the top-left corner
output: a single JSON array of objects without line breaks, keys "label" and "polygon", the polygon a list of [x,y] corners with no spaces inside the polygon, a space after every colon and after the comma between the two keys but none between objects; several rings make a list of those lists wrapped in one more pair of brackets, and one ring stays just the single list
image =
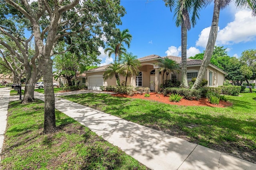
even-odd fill
[{"label": "bare curved grey trunk of the leaning palm, without fronds", "polygon": [[206,68],[210,64],[210,60],[212,57],[212,53],[213,53],[213,49],[214,49],[214,45],[215,45],[217,33],[218,33],[219,17],[220,17],[220,0],[215,0],[214,1],[213,17],[212,17],[212,26],[211,26],[208,42],[206,45],[206,50],[204,53],[204,59],[202,61],[202,65],[200,67],[198,76],[196,78],[196,81],[195,81],[192,89],[198,89],[200,87],[202,79],[204,78],[204,75],[206,73]]}]

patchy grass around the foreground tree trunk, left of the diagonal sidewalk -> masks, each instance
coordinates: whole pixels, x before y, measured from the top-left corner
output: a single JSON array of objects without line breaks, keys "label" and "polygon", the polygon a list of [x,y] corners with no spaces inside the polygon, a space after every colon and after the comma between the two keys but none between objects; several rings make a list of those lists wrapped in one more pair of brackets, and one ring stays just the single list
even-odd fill
[{"label": "patchy grass around the foreground tree trunk, left of the diagonal sidewalk", "polygon": [[146,169],[60,111],[55,112],[57,130],[43,134],[44,103],[35,101],[9,103],[1,169]]}]

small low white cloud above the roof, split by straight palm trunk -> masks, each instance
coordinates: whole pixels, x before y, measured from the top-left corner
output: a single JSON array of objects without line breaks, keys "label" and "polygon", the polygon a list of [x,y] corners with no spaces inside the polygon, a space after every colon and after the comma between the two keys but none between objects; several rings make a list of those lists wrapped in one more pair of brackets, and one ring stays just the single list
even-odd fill
[{"label": "small low white cloud above the roof, split by straight palm trunk", "polygon": [[[179,46],[178,48],[175,46],[170,46],[168,47],[168,50],[165,51],[166,55],[173,55],[173,56],[181,56],[181,46]],[[190,47],[189,49],[187,49],[187,57],[191,57],[194,56],[196,54],[200,53],[200,50],[197,49],[196,47]]]}]

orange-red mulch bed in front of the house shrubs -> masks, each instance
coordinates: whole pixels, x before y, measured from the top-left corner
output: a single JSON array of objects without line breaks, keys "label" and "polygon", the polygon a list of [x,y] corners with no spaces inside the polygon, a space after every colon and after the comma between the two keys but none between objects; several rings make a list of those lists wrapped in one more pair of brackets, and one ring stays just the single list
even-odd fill
[{"label": "orange-red mulch bed in front of the house shrubs", "polygon": [[170,105],[182,105],[182,106],[210,106],[210,107],[228,107],[232,106],[232,103],[227,102],[227,101],[220,101],[219,105],[213,105],[208,102],[206,98],[201,98],[200,100],[186,100],[186,99],[181,99],[180,102],[170,102],[168,96],[164,96],[163,94],[157,94],[157,93],[150,93],[150,97],[144,97],[144,94],[135,94],[133,96],[128,96],[124,94],[115,94],[113,96],[118,96],[118,97],[129,97],[129,98],[134,98],[134,99],[145,99],[145,100],[152,100],[152,101],[159,101],[162,103],[167,103]]}]

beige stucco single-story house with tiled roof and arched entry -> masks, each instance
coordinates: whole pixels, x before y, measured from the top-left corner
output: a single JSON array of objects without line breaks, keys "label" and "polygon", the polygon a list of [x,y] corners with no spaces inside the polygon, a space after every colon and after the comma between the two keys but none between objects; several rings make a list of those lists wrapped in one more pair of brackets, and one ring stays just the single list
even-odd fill
[{"label": "beige stucco single-story house with tiled roof and arched entry", "polygon": [[[178,64],[181,67],[181,57],[175,56],[166,56]],[[158,60],[164,59],[165,57],[160,57],[159,55],[148,55],[146,57],[139,58],[138,60],[141,63],[140,73],[137,76],[130,76],[128,78],[127,84],[136,86],[136,87],[150,87],[150,90],[154,90],[153,83],[158,87],[162,83],[162,74],[159,72],[160,67],[158,66]],[[191,81],[193,77],[197,77],[202,60],[199,59],[187,59],[187,75],[188,82]],[[88,70],[86,73],[85,79],[87,79],[88,89],[99,90],[100,86],[108,86],[108,85],[116,85],[116,78],[112,77],[112,79],[104,80],[103,73],[106,71],[109,65],[104,65],[102,67],[94,68]],[[211,87],[216,87],[219,85],[223,85],[225,80],[225,75],[227,73],[222,69],[216,67],[211,64],[207,67],[205,79],[208,80],[208,85]],[[182,80],[180,73],[170,73],[167,79],[178,79],[178,81]],[[164,75],[164,80],[166,79],[166,75]],[[125,81],[125,77],[120,75],[120,82]],[[157,88],[156,88],[157,91]]]}]

